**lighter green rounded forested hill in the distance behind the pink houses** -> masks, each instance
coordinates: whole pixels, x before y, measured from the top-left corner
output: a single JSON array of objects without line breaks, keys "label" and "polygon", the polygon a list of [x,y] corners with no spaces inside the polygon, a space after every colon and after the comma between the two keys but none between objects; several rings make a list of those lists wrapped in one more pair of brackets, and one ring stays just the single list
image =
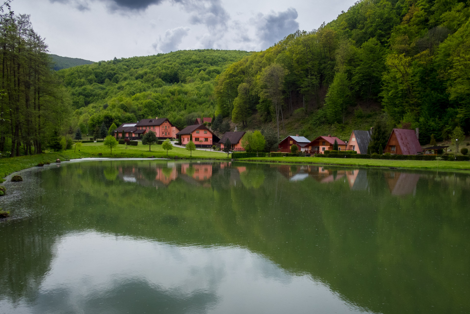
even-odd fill
[{"label": "lighter green rounded forested hill in the distance behind the pink houses", "polygon": [[58,72],[76,109],[74,127],[83,134],[103,122],[166,117],[182,129],[214,114],[214,82],[229,64],[249,55],[235,50],[182,50],[114,59]]}]

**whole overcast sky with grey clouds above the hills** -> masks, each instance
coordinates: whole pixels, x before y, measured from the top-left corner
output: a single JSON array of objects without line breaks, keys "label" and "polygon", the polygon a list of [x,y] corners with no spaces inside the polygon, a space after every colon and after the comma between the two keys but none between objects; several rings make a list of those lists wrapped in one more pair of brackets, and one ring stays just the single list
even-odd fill
[{"label": "whole overcast sky with grey clouds above the hills", "polygon": [[92,61],[180,49],[262,50],[354,0],[14,0],[51,53]]}]

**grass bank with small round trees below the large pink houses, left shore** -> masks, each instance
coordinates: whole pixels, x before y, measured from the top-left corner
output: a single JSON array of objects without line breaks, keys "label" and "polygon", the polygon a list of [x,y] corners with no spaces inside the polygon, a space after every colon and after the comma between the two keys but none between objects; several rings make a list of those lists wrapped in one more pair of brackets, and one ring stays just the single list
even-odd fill
[{"label": "grass bank with small round trees below the large pink houses, left shore", "polygon": [[[100,155],[100,153],[102,155]],[[20,156],[13,158],[1,158],[0,159],[0,182],[3,182],[3,177],[8,176],[10,173],[15,171],[27,169],[36,166],[39,162],[55,162],[56,159],[77,159],[81,157],[106,157],[106,158],[147,158],[154,156],[155,158],[191,158],[191,159],[227,159],[227,154],[210,151],[193,151],[192,156],[190,153],[180,147],[174,147],[171,151],[162,149],[162,145],[152,145],[151,151],[149,152],[149,146],[144,146],[139,143],[137,146],[118,145],[117,148],[113,149],[112,155],[110,150],[106,148],[103,143],[84,143],[77,150],[76,153],[73,149],[58,152],[58,153],[43,153],[32,156]]]}]

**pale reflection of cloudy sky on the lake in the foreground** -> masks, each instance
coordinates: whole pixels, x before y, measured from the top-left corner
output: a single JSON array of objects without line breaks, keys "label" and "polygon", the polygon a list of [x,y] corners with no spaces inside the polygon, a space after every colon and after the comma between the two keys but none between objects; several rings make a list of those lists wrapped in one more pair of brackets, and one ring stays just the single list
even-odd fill
[{"label": "pale reflection of cloudy sky on the lake in the foreground", "polygon": [[[81,232],[64,236],[55,252],[34,303],[12,313],[361,312],[309,276],[238,247]],[[5,301],[2,308],[13,308]]]}]

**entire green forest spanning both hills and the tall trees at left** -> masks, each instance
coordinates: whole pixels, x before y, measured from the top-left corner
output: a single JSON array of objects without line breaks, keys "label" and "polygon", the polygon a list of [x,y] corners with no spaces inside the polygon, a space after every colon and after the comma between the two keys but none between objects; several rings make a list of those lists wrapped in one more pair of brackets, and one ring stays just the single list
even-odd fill
[{"label": "entire green forest spanning both hills and the tall trees at left", "polygon": [[[40,107],[40,117],[31,118],[36,124],[44,120],[35,127],[40,133],[25,129],[23,122],[16,130],[15,115],[18,121],[30,119],[27,103],[33,99],[18,95],[31,87],[20,84],[15,90],[4,85],[0,139],[9,144],[0,148],[11,155],[15,142],[31,153],[26,148],[31,143],[40,141],[44,149],[56,142],[57,134],[80,129],[91,135],[103,124],[109,128],[157,116],[179,129],[196,117],[217,117],[211,127],[218,134],[237,125],[273,129],[281,138],[332,134],[347,140],[352,129],[374,125],[385,129],[384,134],[394,127],[419,128],[423,145],[431,137],[450,137],[456,127],[467,134],[469,6],[456,0],[358,1],[334,21],[313,31],[297,31],[259,52],[183,50],[57,72],[43,58],[42,64],[49,63],[51,70],[41,72],[36,82],[61,95],[53,103],[60,103],[63,121],[49,123],[47,119],[56,118]],[[3,41],[11,40],[8,21],[18,23],[19,18],[2,15]],[[23,33],[18,36],[27,41]],[[41,56],[47,50],[43,46]],[[1,49],[13,56],[19,53],[17,47],[2,44]],[[24,82],[34,73],[27,75]],[[41,91],[31,89],[31,95],[38,97]],[[52,105],[47,98],[36,101]]]}]

